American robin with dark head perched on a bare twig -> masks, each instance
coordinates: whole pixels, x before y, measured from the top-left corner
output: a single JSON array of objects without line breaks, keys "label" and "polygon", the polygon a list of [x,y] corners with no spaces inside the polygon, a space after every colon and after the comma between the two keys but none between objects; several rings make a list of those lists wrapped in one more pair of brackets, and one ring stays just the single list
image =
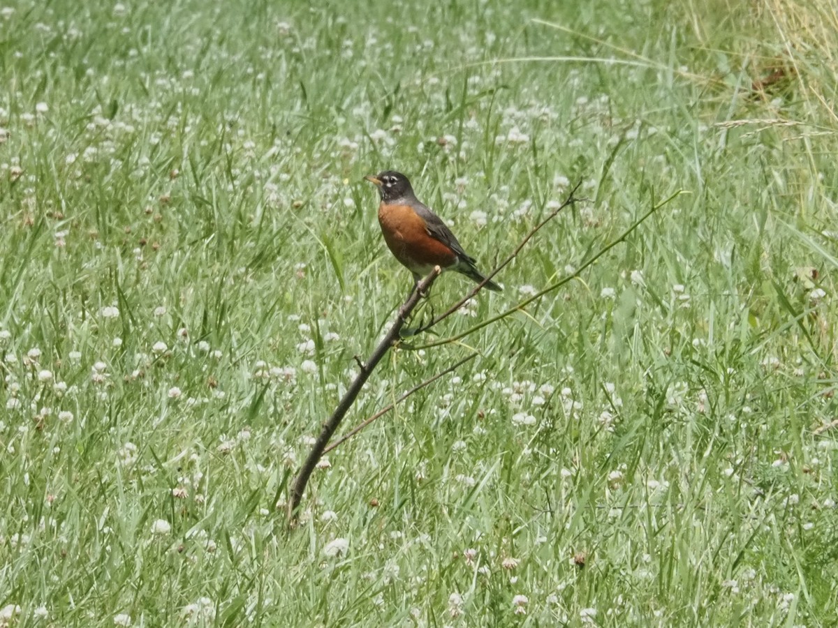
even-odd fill
[{"label": "American robin with dark head perched on a bare twig", "polygon": [[[378,187],[378,222],[384,241],[396,260],[413,273],[414,287],[437,265],[442,270],[456,270],[473,281],[484,281],[473,258],[442,219],[419,202],[405,175],[386,170],[365,179]],[[494,281],[487,281],[486,287],[501,290]]]}]

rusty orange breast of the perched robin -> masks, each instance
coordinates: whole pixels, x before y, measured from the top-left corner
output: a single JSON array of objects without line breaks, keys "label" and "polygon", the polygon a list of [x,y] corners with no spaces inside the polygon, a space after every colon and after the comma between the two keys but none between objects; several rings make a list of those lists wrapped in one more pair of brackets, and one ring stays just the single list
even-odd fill
[{"label": "rusty orange breast of the perched robin", "polygon": [[427,233],[425,220],[410,205],[381,203],[378,222],[387,248],[410,270],[426,272],[436,265],[445,268],[457,262],[457,254]]}]

